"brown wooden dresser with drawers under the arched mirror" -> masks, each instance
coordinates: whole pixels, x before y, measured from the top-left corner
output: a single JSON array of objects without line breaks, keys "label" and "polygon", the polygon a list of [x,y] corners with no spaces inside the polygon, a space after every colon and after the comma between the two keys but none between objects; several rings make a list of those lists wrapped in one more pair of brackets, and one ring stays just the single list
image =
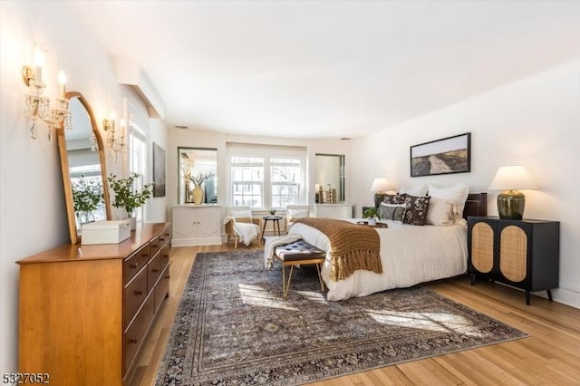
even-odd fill
[{"label": "brown wooden dresser with drawers under the arched mirror", "polygon": [[55,385],[128,385],[169,295],[169,223],[120,244],[66,245],[20,265],[19,372]]}]

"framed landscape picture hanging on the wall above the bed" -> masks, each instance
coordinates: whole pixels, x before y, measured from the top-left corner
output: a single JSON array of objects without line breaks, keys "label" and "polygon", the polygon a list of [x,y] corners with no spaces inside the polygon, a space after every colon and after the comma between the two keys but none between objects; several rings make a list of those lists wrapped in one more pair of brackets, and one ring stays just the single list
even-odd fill
[{"label": "framed landscape picture hanging on the wall above the bed", "polygon": [[411,146],[411,177],[471,171],[471,133]]}]

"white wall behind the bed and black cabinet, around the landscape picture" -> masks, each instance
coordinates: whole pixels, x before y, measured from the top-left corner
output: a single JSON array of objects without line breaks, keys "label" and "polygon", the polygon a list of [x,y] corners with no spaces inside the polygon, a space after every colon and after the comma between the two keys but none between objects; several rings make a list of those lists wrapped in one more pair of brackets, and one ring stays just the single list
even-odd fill
[{"label": "white wall behind the bed and black cabinet, around the landscape picture", "polygon": [[[410,147],[471,132],[471,172],[410,178]],[[353,141],[354,203],[372,203],[372,178],[394,187],[467,182],[487,191],[502,165],[522,164],[539,189],[526,190],[525,217],[560,221],[557,301],[580,307],[580,60],[509,83],[389,130]],[[497,191],[488,214],[498,215]]]}]

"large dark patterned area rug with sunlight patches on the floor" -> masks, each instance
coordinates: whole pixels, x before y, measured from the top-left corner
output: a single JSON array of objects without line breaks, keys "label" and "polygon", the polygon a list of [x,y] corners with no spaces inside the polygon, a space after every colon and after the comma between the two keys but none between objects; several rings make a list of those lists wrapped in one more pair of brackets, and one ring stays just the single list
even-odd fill
[{"label": "large dark patterned area rug with sunlight patches on the floor", "polygon": [[525,333],[415,286],[327,302],[315,268],[288,299],[262,251],[196,257],[156,385],[295,385]]}]

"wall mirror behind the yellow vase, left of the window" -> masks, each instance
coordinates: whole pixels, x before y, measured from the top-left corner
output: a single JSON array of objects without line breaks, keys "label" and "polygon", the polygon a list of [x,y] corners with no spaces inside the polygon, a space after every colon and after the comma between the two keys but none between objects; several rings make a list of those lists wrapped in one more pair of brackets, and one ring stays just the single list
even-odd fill
[{"label": "wall mirror behind the yellow vase, left of the window", "polygon": [[[194,182],[186,176],[194,179],[199,176],[204,179],[200,188],[203,189],[201,204],[218,203],[218,150],[208,148],[185,148],[178,147],[179,165],[179,204],[193,204],[195,187]],[[199,202],[195,202],[199,203]]]}]

